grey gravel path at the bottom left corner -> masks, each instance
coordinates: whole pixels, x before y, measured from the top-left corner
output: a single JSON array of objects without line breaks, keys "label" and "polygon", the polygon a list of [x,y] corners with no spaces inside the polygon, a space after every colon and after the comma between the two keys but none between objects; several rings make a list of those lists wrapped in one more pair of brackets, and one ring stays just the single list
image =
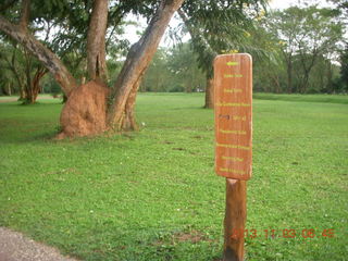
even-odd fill
[{"label": "grey gravel path at the bottom left corner", "polygon": [[0,261],[77,261],[63,257],[44,244],[36,243],[21,233],[0,227]]}]

